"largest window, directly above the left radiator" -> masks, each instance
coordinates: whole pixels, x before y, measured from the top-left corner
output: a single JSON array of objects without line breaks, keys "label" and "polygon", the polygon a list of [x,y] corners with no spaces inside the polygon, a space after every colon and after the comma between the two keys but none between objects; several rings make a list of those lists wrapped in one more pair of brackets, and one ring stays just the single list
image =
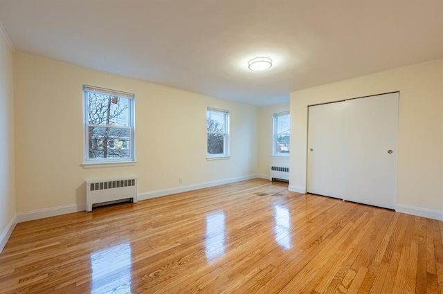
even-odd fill
[{"label": "largest window, directly above the left radiator", "polygon": [[134,94],[83,86],[84,162],[135,160]]}]

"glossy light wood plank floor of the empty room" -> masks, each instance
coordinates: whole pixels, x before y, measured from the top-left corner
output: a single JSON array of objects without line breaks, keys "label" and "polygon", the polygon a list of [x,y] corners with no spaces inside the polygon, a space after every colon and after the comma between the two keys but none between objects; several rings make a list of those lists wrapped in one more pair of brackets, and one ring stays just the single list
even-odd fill
[{"label": "glossy light wood plank floor of the empty room", "polygon": [[19,223],[0,293],[443,293],[443,222],[255,179]]}]

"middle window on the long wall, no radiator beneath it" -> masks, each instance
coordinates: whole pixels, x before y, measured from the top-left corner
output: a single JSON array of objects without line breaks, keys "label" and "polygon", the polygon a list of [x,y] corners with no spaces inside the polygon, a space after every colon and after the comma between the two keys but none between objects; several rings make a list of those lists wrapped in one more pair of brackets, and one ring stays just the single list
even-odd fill
[{"label": "middle window on the long wall, no radiator beneath it", "polygon": [[229,156],[229,111],[208,107],[206,130],[208,131],[207,156]]}]

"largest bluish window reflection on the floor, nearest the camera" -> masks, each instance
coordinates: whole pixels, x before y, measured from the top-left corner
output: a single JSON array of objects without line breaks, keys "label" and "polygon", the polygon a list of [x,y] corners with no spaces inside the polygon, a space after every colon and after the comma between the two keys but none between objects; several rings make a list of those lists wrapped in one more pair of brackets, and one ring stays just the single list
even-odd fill
[{"label": "largest bluish window reflection on the floor, nearest the camera", "polygon": [[131,294],[131,246],[129,242],[91,254],[91,294]]}]

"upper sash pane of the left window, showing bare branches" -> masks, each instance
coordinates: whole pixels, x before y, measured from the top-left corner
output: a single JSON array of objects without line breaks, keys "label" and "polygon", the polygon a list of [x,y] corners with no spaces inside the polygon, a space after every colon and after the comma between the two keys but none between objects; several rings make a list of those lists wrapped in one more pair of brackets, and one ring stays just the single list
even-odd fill
[{"label": "upper sash pane of the left window, showing bare branches", "polygon": [[128,98],[87,92],[89,125],[129,126]]}]

